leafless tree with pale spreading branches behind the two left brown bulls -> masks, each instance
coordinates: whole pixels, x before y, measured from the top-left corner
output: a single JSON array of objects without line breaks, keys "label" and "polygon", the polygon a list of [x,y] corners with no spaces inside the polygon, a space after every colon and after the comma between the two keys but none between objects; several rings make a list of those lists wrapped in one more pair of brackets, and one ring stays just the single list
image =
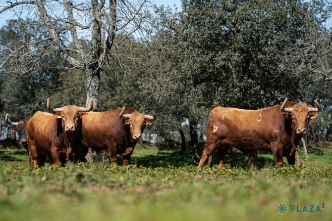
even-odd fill
[{"label": "leafless tree with pale spreading branches behind the two left brown bulls", "polygon": [[[66,62],[64,70],[79,69],[86,76],[86,105],[98,109],[101,66],[111,58],[124,69],[117,48],[133,33],[149,32],[153,4],[148,0],[0,0],[0,14],[12,11],[13,18],[30,27],[26,38],[14,47],[0,45],[0,69],[20,74],[34,70],[45,57],[56,52]],[[43,35],[34,35],[43,29]],[[121,38],[115,38],[116,34]],[[90,159],[92,159],[90,157]]]}]

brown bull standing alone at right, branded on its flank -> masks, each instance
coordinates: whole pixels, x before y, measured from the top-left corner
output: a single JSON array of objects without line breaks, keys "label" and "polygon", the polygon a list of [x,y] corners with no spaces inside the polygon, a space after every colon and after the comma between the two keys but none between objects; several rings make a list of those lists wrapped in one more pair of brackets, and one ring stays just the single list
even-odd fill
[{"label": "brown bull standing alone at right, branded on its flank", "polygon": [[307,132],[310,119],[318,116],[315,112],[321,111],[319,103],[316,100],[315,103],[318,108],[287,102],[286,98],[282,105],[254,111],[214,107],[206,126],[207,146],[198,168],[218,147],[217,163],[222,169],[228,145],[245,156],[255,150],[272,152],[277,167],[283,165],[282,157],[294,165],[297,144]]}]

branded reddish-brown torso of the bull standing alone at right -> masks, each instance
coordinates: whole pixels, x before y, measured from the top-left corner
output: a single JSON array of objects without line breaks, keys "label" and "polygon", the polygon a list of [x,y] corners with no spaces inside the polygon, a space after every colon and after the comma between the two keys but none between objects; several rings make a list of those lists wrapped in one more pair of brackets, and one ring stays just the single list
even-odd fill
[{"label": "branded reddish-brown torso of the bull standing alone at right", "polygon": [[223,139],[223,143],[238,149],[260,146],[269,148],[269,142],[280,133],[278,106],[260,110],[216,107],[207,123],[207,138]]}]

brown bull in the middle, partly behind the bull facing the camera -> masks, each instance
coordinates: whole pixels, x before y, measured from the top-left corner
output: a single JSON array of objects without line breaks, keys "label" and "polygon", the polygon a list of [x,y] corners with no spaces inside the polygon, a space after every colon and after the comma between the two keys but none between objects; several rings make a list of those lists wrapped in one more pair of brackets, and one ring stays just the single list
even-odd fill
[{"label": "brown bull in the middle, partly behind the bull facing the camera", "polygon": [[123,165],[127,166],[145,126],[156,120],[154,111],[153,115],[144,115],[131,107],[102,113],[90,112],[83,119],[81,161],[84,161],[88,148],[95,151],[109,149],[111,163],[116,162],[116,154],[119,154],[123,158]]}]

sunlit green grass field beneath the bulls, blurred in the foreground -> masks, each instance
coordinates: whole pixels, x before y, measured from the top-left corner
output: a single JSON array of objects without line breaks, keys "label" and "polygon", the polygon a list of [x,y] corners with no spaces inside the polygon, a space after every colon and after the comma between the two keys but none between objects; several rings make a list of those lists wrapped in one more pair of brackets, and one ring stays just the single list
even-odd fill
[{"label": "sunlit green grass field beneath the bulls, blurred in the foreground", "polygon": [[[301,158],[304,154],[300,152]],[[190,152],[137,148],[130,167],[96,163],[29,169],[24,149],[0,149],[0,220],[274,221],[332,218],[332,154],[309,153],[304,166],[271,165],[260,152],[259,171],[197,170]],[[161,162],[162,161],[162,162]],[[286,160],[284,160],[286,162]],[[226,167],[229,156],[226,156]],[[278,203],[288,205],[285,215]],[[323,208],[324,203],[324,208]],[[293,211],[290,211],[293,207]],[[310,205],[313,205],[311,207]],[[306,206],[308,212],[303,211]],[[317,209],[319,206],[319,210]],[[312,209],[315,212],[309,212]],[[318,210],[316,212],[316,210]]]}]

